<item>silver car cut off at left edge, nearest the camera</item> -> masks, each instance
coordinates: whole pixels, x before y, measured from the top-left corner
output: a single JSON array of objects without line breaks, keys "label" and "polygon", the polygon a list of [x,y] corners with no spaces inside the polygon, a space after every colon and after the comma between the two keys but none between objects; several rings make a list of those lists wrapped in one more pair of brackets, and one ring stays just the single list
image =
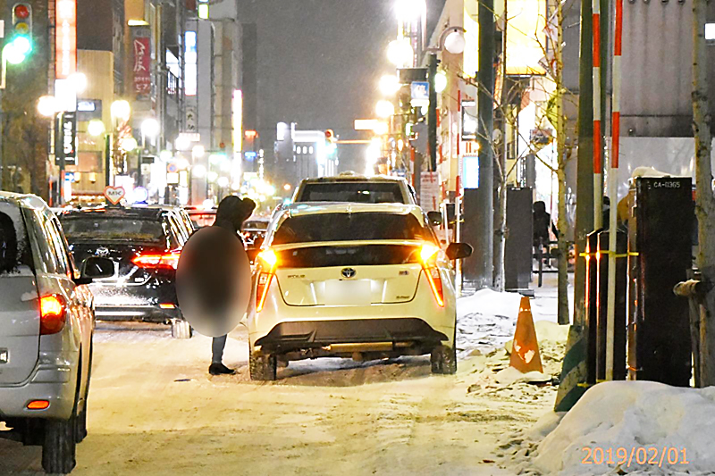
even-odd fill
[{"label": "silver car cut off at left edge, nearest the camera", "polygon": [[[95,310],[86,286],[106,258],[78,267],[38,196],[0,192],[0,438],[42,446],[46,472],[71,472],[87,435]],[[80,272],[80,270],[82,270]]]}]

